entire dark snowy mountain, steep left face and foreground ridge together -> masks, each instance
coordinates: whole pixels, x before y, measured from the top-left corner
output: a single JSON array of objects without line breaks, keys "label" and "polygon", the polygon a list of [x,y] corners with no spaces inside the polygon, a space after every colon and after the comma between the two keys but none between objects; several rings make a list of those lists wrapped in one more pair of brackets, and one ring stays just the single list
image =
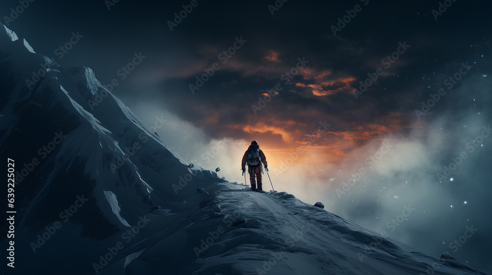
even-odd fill
[{"label": "entire dark snowy mountain, steep left face and foreground ridge together", "polygon": [[90,68],[60,66],[4,29],[0,152],[19,173],[7,274],[491,274],[187,168]]}]

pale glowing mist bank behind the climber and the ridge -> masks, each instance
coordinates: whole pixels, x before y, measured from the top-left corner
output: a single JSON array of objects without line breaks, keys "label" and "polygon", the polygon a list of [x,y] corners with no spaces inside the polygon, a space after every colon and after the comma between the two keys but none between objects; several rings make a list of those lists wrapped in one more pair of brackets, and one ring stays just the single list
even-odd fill
[{"label": "pale glowing mist bank behind the climber and the ridge", "polygon": [[[467,92],[477,98],[489,97],[489,84],[488,80],[470,79],[454,96]],[[183,162],[213,171],[219,167],[219,177],[245,183],[241,159],[250,140],[212,138],[158,101],[123,101],[149,126],[158,126],[153,130]],[[323,131],[308,144],[293,140],[298,148],[286,151],[257,141],[267,157],[275,190],[292,193],[309,204],[320,201],[327,211],[436,256],[448,252],[462,261],[487,261],[479,251],[492,245],[487,238],[492,228],[484,220],[491,211],[482,209],[492,191],[483,184],[488,181],[486,164],[490,163],[486,153],[491,150],[491,136],[485,130],[489,118],[489,113],[475,112],[470,105],[440,112],[430,122],[415,119],[408,135],[374,138],[353,148],[340,163],[326,162],[326,146],[317,147]],[[247,176],[246,183],[249,186]],[[263,188],[271,190],[266,171]],[[453,244],[470,227],[477,231],[466,239],[468,246]]]}]

